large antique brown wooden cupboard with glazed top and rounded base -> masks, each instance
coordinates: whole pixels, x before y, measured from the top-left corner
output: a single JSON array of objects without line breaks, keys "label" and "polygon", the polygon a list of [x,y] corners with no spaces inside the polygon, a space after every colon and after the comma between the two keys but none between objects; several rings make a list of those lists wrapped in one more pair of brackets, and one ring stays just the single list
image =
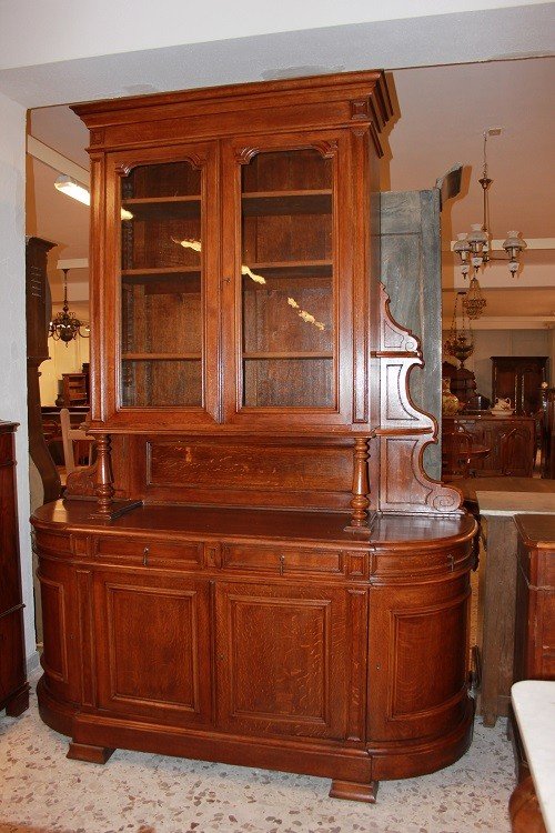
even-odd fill
[{"label": "large antique brown wooden cupboard with glazed top and rounded base", "polygon": [[[474,521],[380,285],[381,72],[74,108],[94,469],[41,508],[43,720],[373,801],[472,736]],[[73,495],[73,496],[72,496]]]}]

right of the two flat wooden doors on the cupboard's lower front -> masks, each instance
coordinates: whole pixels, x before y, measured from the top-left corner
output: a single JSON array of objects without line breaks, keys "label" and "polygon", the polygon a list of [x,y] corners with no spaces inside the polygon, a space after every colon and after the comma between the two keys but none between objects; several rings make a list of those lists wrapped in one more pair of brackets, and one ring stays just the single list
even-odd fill
[{"label": "right of the two flat wooden doors on the cupboard's lower front", "polygon": [[[364,593],[222,583],[216,591],[219,725],[292,737],[361,736]],[[356,710],[355,710],[356,711]],[[351,721],[353,727],[351,731]]]}]

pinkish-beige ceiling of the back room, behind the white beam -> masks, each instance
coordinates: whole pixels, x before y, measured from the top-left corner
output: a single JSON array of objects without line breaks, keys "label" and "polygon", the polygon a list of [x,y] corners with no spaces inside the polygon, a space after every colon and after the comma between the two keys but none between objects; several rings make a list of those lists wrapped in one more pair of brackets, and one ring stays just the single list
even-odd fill
[{"label": "pinkish-beige ceiling of the back room, behind the white beam", "polygon": [[[501,127],[487,143],[491,227],[504,239],[518,229],[528,240],[555,237],[555,58],[493,61],[395,70],[390,73],[396,117],[389,131],[382,162],[382,190],[432,188],[455,162],[464,164],[461,194],[442,215],[444,307],[451,314],[455,274],[450,241],[482,219],[483,131]],[[88,132],[65,106],[31,111],[30,133],[83,168],[88,168]],[[33,159],[29,169],[28,233],[58,243],[58,258],[88,255],[89,209],[53,188],[59,171]],[[553,240],[551,240],[553,244]],[[549,317],[555,311],[555,251],[531,250],[517,279],[501,265],[482,279],[487,315]],[[51,269],[54,298],[61,295],[61,273]],[[494,274],[495,273],[495,274]],[[88,274],[70,274],[71,298],[85,294]],[[82,285],[80,285],[82,284]],[[501,284],[501,285],[500,285]],[[74,304],[73,304],[74,305]],[[513,321],[514,325],[514,321]]]}]

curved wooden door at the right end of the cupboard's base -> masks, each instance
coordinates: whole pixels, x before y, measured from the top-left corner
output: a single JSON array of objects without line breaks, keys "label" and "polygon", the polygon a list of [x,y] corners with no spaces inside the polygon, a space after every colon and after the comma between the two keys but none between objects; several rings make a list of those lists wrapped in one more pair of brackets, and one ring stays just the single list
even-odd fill
[{"label": "curved wooden door at the right end of the cupboard's base", "polygon": [[[425,600],[425,604],[423,603]],[[468,670],[467,576],[376,588],[370,599],[372,741],[441,734],[463,719]]]}]

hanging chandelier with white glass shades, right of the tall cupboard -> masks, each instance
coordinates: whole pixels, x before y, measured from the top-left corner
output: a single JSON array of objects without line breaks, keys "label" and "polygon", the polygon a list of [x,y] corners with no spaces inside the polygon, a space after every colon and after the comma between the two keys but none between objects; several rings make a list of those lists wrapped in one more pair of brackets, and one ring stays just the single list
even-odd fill
[{"label": "hanging chandelier with white glass shades, right of the tall cupboard", "polygon": [[[472,265],[473,275],[468,285],[466,297],[463,299],[463,307],[470,319],[480,318],[486,301],[482,295],[482,288],[478,281],[478,270],[483,269],[491,260],[505,260],[492,254],[491,231],[490,231],[490,185],[493,180],[487,175],[487,137],[500,136],[501,128],[490,128],[484,130],[484,159],[482,177],[478,179],[482,185],[482,224],[471,225],[468,233],[457,234],[453,251],[456,252],[461,260],[461,272],[463,278],[468,277]],[[518,231],[507,232],[507,238],[503,242],[503,249],[508,258],[508,269],[512,277],[518,271],[518,258],[526,249],[525,241],[519,237]]]}]

